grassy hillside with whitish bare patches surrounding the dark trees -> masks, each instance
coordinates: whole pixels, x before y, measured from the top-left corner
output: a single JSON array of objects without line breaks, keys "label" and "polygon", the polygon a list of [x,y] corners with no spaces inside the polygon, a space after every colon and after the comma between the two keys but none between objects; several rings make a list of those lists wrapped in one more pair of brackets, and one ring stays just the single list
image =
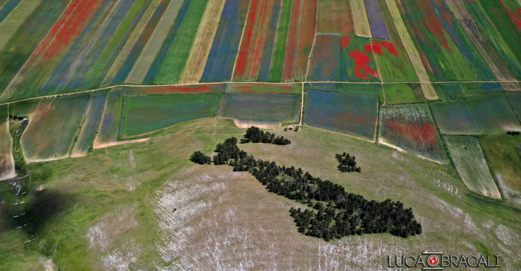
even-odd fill
[{"label": "grassy hillside with whitish bare patches surrounding the dark trees", "polygon": [[[388,254],[425,248],[501,254],[505,269],[521,268],[515,256],[520,252],[519,209],[470,192],[449,166],[308,127],[275,131],[291,139],[287,146],[240,145],[256,158],[302,167],[368,199],[400,200],[412,207],[424,229],[406,239],[381,234],[325,242],[304,236],[288,213],[302,205],[267,192],[253,176],[232,172],[230,166],[188,161],[193,151],[209,154],[217,143],[244,132],[220,118],[184,122],[144,143],[27,165],[26,194],[15,197],[10,185],[0,184],[6,201],[0,240],[10,240],[0,250],[0,269],[33,270],[52,257],[60,270],[231,269],[241,264],[376,270]],[[339,172],[334,159],[339,151],[355,155],[362,173]],[[13,201],[26,201],[23,220],[11,221],[10,214],[22,211]],[[24,221],[31,226],[13,229]],[[34,233],[38,238],[20,244]]]}]

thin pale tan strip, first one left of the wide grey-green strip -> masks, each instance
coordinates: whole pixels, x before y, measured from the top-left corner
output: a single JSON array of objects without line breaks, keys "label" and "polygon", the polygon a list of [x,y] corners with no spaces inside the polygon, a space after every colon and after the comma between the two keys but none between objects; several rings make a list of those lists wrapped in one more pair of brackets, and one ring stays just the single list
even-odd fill
[{"label": "thin pale tan strip, first one left of the wide grey-green strip", "polygon": [[122,68],[123,64],[125,63],[127,57],[130,54],[130,51],[132,50],[135,43],[140,38],[141,33],[143,32],[148,21],[151,19],[152,15],[154,14],[154,11],[156,10],[157,6],[159,5],[159,2],[160,2],[160,0],[152,0],[152,3],[150,4],[150,6],[148,6],[145,13],[141,17],[141,20],[135,26],[132,34],[130,35],[127,42],[125,43],[125,46],[121,49],[121,51],[119,52],[119,55],[116,57],[116,59],[112,63],[110,69],[108,70],[107,74],[105,75],[102,85],[109,85],[111,82],[113,82],[114,78],[116,78],[116,74]]}]

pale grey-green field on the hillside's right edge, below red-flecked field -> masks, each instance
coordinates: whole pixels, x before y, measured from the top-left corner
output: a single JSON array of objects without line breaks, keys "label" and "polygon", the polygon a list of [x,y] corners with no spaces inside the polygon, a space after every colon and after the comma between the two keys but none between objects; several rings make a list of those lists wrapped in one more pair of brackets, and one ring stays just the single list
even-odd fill
[{"label": "pale grey-green field on the hillside's right edge, below red-flecked field", "polygon": [[468,189],[492,198],[501,198],[485,161],[479,139],[471,136],[445,136],[457,172]]}]

